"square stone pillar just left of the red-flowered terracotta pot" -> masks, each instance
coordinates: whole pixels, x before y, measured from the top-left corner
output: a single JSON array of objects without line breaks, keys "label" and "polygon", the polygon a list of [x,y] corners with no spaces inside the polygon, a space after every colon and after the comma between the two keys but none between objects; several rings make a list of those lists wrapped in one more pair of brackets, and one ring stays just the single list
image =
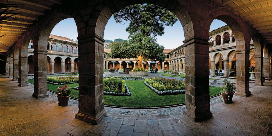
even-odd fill
[{"label": "square stone pillar just left of the red-flowered terracotta pot", "polygon": [[33,52],[34,52],[34,93],[33,93],[33,96],[35,98],[48,97],[48,94],[47,94],[47,50],[34,49]]}]

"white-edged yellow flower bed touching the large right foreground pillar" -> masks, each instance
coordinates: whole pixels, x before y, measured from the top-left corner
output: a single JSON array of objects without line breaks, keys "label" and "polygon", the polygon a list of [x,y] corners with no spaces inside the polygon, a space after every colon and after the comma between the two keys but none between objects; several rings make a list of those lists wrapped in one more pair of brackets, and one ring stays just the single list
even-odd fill
[{"label": "white-edged yellow flower bed touching the large right foreground pillar", "polygon": [[185,82],[177,79],[154,77],[152,79],[145,79],[144,84],[146,84],[158,95],[173,95],[185,93]]}]

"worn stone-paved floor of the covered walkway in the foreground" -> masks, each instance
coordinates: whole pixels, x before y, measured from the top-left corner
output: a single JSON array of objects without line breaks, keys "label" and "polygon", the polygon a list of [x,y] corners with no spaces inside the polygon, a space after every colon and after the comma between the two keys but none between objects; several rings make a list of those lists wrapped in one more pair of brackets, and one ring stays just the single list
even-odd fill
[{"label": "worn stone-paved floor of the covered walkway in the foreground", "polygon": [[[11,78],[0,78],[0,136],[6,135],[272,135],[272,81],[252,86],[248,98],[234,96],[232,104],[211,103],[213,118],[194,123],[177,109],[156,115],[125,115],[110,112],[98,124],[75,119],[78,103],[57,105],[54,93],[32,97],[33,86],[19,87]],[[156,110],[156,109],[155,109]],[[164,110],[164,109],[161,109]],[[150,110],[151,111],[151,110]]]}]

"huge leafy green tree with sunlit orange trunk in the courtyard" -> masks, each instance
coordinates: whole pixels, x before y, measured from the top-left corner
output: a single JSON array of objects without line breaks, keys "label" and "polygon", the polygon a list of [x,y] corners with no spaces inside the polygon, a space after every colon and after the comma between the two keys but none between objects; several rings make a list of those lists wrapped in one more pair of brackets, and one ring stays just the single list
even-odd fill
[{"label": "huge leafy green tree with sunlit orange trunk in the courtyard", "polygon": [[129,21],[126,31],[129,40],[113,42],[110,45],[110,58],[137,58],[142,67],[142,60],[164,61],[164,46],[157,44],[157,35],[164,34],[164,26],[173,26],[176,16],[165,8],[153,4],[127,6],[113,14],[116,23]]}]

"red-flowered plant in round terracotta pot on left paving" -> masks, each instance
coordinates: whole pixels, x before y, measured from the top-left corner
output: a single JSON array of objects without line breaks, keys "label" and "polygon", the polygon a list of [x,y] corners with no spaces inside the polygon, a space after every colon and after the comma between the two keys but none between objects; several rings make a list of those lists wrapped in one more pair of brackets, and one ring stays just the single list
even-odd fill
[{"label": "red-flowered plant in round terracotta pot on left paving", "polygon": [[68,105],[68,101],[69,101],[69,97],[70,97],[70,88],[65,85],[62,88],[58,87],[58,91],[57,91],[57,97],[58,97],[58,101],[59,101],[59,106],[67,106]]}]

